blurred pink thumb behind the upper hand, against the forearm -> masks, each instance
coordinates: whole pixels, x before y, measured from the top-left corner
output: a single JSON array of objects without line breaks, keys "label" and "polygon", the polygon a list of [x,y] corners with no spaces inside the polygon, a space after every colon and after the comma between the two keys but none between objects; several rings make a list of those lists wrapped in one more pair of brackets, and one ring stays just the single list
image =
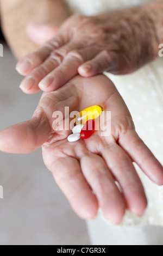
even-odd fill
[{"label": "blurred pink thumb behind the upper hand, against the forearm", "polygon": [[26,34],[37,45],[42,45],[51,40],[59,31],[60,26],[53,24],[38,25],[29,23],[26,27]]}]

